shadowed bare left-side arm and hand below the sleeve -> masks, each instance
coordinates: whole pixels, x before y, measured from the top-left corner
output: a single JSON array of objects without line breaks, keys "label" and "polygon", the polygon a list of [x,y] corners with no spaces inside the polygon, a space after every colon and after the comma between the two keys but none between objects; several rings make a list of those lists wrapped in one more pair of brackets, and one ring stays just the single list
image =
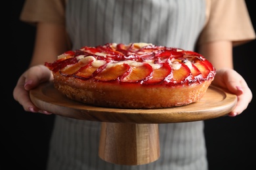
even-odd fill
[{"label": "shadowed bare left-side arm and hand below the sleeve", "polygon": [[58,24],[37,24],[37,34],[30,68],[25,71],[13,90],[13,97],[30,112],[42,112],[49,114],[33,105],[29,91],[39,86],[42,82],[53,79],[51,71],[43,64],[45,61],[52,62],[59,54],[68,50],[68,41],[64,26]]}]

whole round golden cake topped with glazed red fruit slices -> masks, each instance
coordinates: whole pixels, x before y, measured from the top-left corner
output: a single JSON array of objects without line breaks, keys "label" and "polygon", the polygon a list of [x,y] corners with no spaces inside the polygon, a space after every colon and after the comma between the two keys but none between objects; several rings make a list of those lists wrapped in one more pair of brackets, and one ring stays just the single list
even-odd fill
[{"label": "whole round golden cake topped with glazed red fruit slices", "polygon": [[200,101],[216,74],[201,54],[144,42],[83,46],[45,66],[53,72],[54,88],[68,99],[122,109]]}]

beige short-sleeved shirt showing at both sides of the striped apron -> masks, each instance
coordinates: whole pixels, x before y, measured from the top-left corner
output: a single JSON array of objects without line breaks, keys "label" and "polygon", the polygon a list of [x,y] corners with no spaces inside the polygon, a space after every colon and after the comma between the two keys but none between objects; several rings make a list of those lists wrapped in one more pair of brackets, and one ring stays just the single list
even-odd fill
[{"label": "beige short-sleeved shirt showing at both sides of the striped apron", "polygon": [[[199,44],[232,41],[234,45],[255,39],[255,31],[244,0],[205,0],[207,20]],[[20,19],[24,22],[65,24],[66,0],[26,0]]]}]

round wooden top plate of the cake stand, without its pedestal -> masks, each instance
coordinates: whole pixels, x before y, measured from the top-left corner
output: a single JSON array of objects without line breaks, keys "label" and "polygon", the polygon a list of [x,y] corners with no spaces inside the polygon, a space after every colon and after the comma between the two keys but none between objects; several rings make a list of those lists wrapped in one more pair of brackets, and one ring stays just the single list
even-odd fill
[{"label": "round wooden top plate of the cake stand, without its pedestal", "polygon": [[32,102],[39,108],[61,116],[98,122],[161,124],[192,122],[224,116],[237,102],[234,94],[209,86],[202,99],[182,107],[166,109],[114,109],[85,105],[58,92],[53,82],[41,84],[30,91]]}]

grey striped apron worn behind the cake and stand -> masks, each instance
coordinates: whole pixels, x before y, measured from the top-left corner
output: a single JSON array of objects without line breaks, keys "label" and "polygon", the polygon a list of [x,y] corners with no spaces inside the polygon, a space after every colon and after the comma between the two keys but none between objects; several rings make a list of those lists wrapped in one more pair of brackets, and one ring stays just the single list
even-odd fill
[{"label": "grey striped apron worn behind the cake and stand", "polygon": [[[66,26],[73,49],[107,42],[148,42],[194,50],[205,23],[205,0],[71,0]],[[98,157],[100,122],[56,116],[48,170],[205,170],[203,121],[160,124],[160,158],[116,165]]]}]

